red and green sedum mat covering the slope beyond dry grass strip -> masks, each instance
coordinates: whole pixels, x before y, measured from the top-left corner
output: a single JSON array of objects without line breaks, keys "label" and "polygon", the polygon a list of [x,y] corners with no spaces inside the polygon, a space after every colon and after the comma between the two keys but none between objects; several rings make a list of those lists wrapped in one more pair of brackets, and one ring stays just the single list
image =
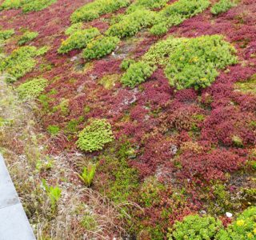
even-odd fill
[{"label": "red and green sedum mat covering the slope beyond dry grass strip", "polygon": [[[256,239],[254,0],[5,0],[0,9],[0,72],[22,105],[36,105],[45,157],[66,156],[63,168],[34,158],[31,195],[42,188],[48,200],[24,204],[34,201],[33,225],[44,222],[40,239],[59,238],[50,226],[63,227],[62,186],[104,196],[98,210],[79,191],[65,239]],[[56,170],[72,174],[57,181]]]}]

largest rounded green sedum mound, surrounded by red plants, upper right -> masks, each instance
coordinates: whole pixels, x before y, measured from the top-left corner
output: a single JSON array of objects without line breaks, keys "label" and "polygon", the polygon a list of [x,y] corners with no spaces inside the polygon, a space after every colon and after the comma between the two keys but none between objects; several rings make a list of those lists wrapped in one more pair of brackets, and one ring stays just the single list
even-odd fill
[{"label": "largest rounded green sedum mound, surrounded by red plants, upper right", "polygon": [[[178,90],[190,87],[198,90],[210,86],[218,76],[218,70],[235,64],[235,53],[234,46],[220,35],[199,38],[170,37],[151,46],[142,56],[141,62],[146,62],[153,68],[164,68],[170,86]],[[123,78],[134,75],[133,68],[134,65],[129,66]],[[146,81],[146,78],[140,82]]]}]

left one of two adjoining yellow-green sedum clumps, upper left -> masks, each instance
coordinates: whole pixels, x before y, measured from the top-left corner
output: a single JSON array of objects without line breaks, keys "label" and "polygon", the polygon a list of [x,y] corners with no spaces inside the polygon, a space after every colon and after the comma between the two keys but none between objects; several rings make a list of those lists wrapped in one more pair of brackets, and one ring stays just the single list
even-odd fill
[{"label": "left one of two adjoining yellow-green sedum clumps, upper left", "polygon": [[95,27],[90,29],[75,31],[69,38],[66,38],[62,42],[62,45],[58,49],[59,54],[66,54],[70,50],[82,49],[95,37],[100,34],[99,30]]}]

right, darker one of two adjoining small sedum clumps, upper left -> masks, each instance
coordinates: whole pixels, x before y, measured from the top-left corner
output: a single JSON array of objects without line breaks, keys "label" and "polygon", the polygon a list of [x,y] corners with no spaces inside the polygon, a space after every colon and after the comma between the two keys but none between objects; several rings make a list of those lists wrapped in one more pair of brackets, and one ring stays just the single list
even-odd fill
[{"label": "right, darker one of two adjoining small sedum clumps, upper left", "polygon": [[87,44],[86,49],[82,52],[82,57],[87,60],[98,59],[110,54],[120,42],[117,37],[98,37]]}]

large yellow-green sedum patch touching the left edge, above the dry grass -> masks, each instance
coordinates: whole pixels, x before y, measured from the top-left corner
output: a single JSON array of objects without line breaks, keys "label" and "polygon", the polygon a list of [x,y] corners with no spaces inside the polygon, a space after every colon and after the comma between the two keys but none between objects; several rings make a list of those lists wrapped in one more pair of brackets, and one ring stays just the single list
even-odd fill
[{"label": "large yellow-green sedum patch touching the left edge, above the dry grass", "polygon": [[35,46],[19,47],[0,62],[0,72],[12,76],[12,78],[6,80],[7,82],[15,82],[18,78],[22,78],[26,73],[30,72],[37,64],[37,60],[34,58],[45,54],[46,51],[47,47],[42,47],[38,50]]}]

